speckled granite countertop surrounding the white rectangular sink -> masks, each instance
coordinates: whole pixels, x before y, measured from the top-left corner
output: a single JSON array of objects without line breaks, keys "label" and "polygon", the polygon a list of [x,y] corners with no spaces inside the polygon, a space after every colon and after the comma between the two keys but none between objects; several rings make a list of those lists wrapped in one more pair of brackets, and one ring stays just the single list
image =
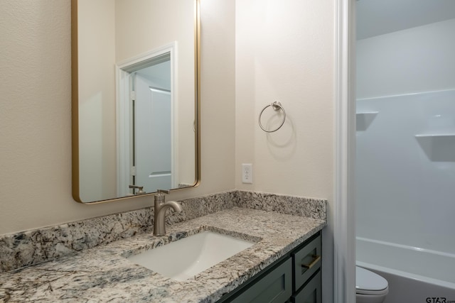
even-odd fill
[{"label": "speckled granite countertop surrounding the white rectangular sink", "polygon": [[[234,207],[166,226],[166,236],[141,233],[59,260],[1,273],[0,301],[215,302],[324,226],[326,221],[320,219]],[[205,230],[257,243],[182,282],[124,258]]]}]

